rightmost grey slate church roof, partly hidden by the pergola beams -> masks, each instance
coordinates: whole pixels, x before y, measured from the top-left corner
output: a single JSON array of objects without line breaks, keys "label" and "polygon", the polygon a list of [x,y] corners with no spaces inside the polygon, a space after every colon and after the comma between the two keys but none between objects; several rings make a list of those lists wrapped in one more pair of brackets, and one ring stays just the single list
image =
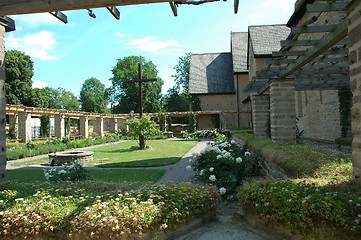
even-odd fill
[{"label": "rightmost grey slate church roof, partly hidden by the pergola beams", "polygon": [[269,55],[281,49],[281,40],[286,40],[290,29],[286,25],[248,27],[254,55]]}]

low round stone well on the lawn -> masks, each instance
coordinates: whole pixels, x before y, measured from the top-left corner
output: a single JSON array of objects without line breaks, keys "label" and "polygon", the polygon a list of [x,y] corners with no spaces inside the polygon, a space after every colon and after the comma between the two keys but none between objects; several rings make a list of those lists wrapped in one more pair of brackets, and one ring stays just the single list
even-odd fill
[{"label": "low round stone well on the lawn", "polygon": [[59,153],[50,153],[49,163],[50,166],[61,166],[69,162],[90,162],[93,160],[93,152],[91,151],[67,151]]}]

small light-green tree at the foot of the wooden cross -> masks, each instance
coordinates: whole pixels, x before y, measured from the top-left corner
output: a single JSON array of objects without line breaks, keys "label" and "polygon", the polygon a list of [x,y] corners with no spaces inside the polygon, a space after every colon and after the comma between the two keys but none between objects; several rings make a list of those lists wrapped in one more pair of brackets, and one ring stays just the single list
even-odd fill
[{"label": "small light-green tree at the foot of the wooden cross", "polygon": [[140,119],[133,119],[125,122],[124,124],[129,125],[129,134],[139,141],[139,148],[145,149],[146,140],[153,135],[157,135],[159,130],[155,128],[155,122],[150,120],[150,117],[144,116]]}]

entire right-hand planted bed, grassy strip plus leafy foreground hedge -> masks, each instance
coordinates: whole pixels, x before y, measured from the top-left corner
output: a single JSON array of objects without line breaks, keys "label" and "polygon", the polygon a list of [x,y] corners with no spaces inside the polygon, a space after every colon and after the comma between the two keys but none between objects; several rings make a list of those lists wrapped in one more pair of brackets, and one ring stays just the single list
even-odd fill
[{"label": "entire right-hand planted bed, grassy strip plus leafy foreground hedge", "polygon": [[239,199],[247,214],[280,227],[290,239],[360,238],[361,187],[352,180],[350,155],[305,144],[272,144],[241,131],[233,134],[290,177],[243,185]]}]

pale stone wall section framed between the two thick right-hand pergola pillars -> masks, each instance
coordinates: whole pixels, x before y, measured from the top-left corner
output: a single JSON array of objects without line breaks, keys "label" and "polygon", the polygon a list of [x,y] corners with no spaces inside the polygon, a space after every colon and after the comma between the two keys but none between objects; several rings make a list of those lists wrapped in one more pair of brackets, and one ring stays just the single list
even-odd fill
[{"label": "pale stone wall section framed between the two thick right-hand pergola pillars", "polygon": [[334,141],[341,136],[337,90],[296,91],[296,116],[302,137]]}]

